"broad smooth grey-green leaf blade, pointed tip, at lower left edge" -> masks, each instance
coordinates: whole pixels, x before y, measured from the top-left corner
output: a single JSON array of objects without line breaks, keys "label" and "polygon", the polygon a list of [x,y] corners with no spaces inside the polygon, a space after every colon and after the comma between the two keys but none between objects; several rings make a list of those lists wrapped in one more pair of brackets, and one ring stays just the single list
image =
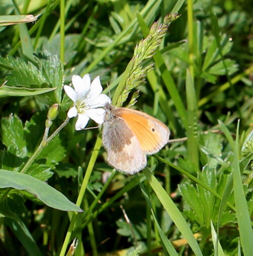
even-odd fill
[{"label": "broad smooth grey-green leaf blade, pointed tip, at lower left edge", "polygon": [[0,170],[0,188],[24,190],[44,202],[49,207],[62,211],[82,212],[81,208],[70,202],[63,194],[30,175]]}]

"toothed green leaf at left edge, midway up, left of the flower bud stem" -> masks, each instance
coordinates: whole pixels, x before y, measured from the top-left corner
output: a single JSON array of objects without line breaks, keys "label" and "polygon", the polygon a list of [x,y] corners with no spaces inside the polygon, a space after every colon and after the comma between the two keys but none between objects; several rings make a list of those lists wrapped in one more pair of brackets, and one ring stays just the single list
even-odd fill
[{"label": "toothed green leaf at left edge, midway up, left of the flower bud stem", "polygon": [[15,147],[17,155],[23,157],[26,141],[22,121],[11,115],[9,118],[2,118],[1,128],[2,142],[7,148]]}]

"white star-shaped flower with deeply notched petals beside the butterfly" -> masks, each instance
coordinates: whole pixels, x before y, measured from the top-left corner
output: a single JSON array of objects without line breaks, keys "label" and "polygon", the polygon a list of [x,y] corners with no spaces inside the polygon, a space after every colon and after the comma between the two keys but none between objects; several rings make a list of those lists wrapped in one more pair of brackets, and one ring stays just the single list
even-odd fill
[{"label": "white star-shaped flower with deeply notched petals beside the butterfly", "polygon": [[75,129],[77,131],[86,127],[91,118],[98,124],[104,122],[105,109],[101,108],[106,103],[110,103],[110,98],[101,94],[103,88],[99,77],[96,77],[92,83],[89,74],[83,78],[74,75],[72,77],[73,87],[64,85],[64,90],[74,105],[68,111],[68,117],[76,117]]}]

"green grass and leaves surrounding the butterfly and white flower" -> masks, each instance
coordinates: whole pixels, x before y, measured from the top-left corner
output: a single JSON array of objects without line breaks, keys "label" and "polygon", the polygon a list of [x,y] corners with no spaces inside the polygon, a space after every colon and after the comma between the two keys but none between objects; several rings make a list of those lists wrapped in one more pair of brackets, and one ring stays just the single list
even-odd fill
[{"label": "green grass and leaves surrounding the butterfly and white flower", "polygon": [[[0,2],[0,255],[71,255],[73,238],[74,255],[253,255],[250,4]],[[170,127],[136,175],[106,164],[100,129],[65,121],[63,85],[88,72]]]}]

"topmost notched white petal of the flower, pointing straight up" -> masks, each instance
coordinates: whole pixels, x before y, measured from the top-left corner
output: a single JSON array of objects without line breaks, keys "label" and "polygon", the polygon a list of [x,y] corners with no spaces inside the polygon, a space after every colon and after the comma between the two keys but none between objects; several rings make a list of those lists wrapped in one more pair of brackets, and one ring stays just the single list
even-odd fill
[{"label": "topmost notched white petal of the flower, pointing straight up", "polygon": [[72,76],[72,84],[77,93],[77,98],[83,98],[90,91],[91,79],[90,75],[86,74],[83,79],[77,75]]}]

